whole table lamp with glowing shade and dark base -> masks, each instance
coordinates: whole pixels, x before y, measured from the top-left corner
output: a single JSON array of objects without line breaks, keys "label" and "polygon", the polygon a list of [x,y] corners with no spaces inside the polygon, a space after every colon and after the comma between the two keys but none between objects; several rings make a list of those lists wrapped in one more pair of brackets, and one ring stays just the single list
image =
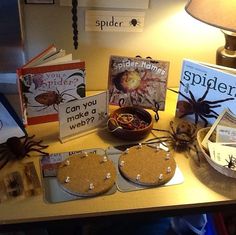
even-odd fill
[{"label": "whole table lamp with glowing shade and dark base", "polygon": [[216,52],[216,64],[236,68],[236,0],[190,0],[185,10],[222,30],[225,45]]}]

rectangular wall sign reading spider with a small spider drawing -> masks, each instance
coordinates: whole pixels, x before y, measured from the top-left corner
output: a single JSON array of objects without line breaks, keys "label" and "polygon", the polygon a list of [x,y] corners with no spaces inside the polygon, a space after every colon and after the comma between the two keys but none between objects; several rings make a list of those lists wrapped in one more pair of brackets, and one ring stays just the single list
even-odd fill
[{"label": "rectangular wall sign reading spider with a small spider drawing", "polygon": [[85,31],[142,32],[145,12],[87,10]]}]

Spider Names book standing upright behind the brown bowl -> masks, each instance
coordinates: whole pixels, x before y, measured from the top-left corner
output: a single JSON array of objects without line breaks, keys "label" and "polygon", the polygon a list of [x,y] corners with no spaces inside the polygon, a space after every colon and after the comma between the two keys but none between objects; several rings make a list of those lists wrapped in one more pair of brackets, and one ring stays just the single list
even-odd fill
[{"label": "Spider Names book standing upright behind the brown bowl", "polygon": [[111,56],[109,63],[109,104],[165,109],[169,62]]}]

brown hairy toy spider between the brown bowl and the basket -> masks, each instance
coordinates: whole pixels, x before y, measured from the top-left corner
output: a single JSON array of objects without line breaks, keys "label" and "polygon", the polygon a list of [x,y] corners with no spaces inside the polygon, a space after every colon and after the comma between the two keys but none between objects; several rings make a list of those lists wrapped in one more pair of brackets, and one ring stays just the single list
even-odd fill
[{"label": "brown hairy toy spider between the brown bowl and the basket", "polygon": [[170,130],[161,130],[154,128],[153,130],[165,132],[168,135],[160,136],[147,141],[147,143],[162,143],[169,149],[176,152],[187,152],[190,154],[191,150],[197,154],[200,163],[200,157],[196,146],[196,125],[187,121],[182,121],[174,127],[174,122],[170,122]]}]

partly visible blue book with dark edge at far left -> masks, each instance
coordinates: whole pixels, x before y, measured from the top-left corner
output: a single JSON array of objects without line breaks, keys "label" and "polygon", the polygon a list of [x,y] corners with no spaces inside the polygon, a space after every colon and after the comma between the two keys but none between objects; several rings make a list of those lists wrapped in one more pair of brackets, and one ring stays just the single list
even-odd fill
[{"label": "partly visible blue book with dark edge at far left", "polygon": [[23,122],[8,100],[0,93],[0,144],[11,137],[24,137],[26,131]]}]

